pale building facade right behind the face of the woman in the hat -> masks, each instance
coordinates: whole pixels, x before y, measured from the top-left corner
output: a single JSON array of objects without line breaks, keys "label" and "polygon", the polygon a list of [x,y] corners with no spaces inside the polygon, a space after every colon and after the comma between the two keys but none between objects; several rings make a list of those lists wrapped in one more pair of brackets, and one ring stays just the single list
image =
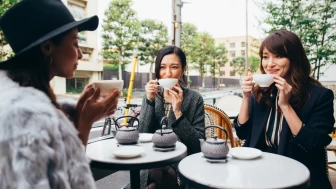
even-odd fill
[{"label": "pale building facade right behind the face of the woman in the hat", "polygon": [[[97,0],[62,0],[69,8],[76,20],[97,15]],[[78,34],[79,47],[83,52],[83,58],[78,60],[78,67],[73,79],[54,77],[50,81],[55,94],[78,93],[85,85],[92,81],[101,80],[103,73],[103,62],[99,56],[98,32],[83,31]]]}]

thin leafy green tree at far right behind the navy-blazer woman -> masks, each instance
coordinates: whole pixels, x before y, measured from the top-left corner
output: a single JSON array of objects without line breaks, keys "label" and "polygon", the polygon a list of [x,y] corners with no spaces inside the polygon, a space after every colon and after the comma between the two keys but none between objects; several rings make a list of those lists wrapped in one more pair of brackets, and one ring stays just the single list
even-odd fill
[{"label": "thin leafy green tree at far right behind the navy-blazer woman", "polygon": [[321,67],[336,64],[336,3],[335,0],[312,1],[307,6],[305,33],[301,38],[308,47],[308,57],[313,67],[313,76],[319,80]]}]

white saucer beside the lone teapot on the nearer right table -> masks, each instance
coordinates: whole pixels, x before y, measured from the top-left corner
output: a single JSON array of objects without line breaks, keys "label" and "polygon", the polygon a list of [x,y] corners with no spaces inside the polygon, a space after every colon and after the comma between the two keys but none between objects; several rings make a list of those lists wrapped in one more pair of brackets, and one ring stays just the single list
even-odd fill
[{"label": "white saucer beside the lone teapot on the nearer right table", "polygon": [[231,148],[229,153],[232,157],[237,159],[255,159],[261,156],[262,151],[256,148],[237,147]]}]

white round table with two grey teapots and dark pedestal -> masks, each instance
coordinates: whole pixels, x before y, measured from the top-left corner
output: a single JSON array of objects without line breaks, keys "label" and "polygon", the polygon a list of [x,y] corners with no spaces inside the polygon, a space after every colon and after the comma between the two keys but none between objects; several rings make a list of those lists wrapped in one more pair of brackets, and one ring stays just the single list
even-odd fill
[{"label": "white round table with two grey teapots and dark pedestal", "polygon": [[181,161],[187,155],[187,147],[176,143],[173,151],[160,152],[153,149],[153,143],[137,143],[145,152],[136,158],[120,159],[112,152],[118,148],[115,139],[95,141],[87,145],[86,155],[91,160],[91,166],[109,170],[130,170],[131,188],[140,188],[140,170],[163,167]]}]

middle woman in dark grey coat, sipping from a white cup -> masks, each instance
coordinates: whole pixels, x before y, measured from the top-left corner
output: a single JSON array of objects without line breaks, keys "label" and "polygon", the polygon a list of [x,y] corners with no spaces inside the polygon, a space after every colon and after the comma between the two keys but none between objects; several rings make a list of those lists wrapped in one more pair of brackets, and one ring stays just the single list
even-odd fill
[{"label": "middle woman in dark grey coat, sipping from a white cup", "polygon": [[[186,70],[186,56],[176,46],[166,46],[159,50],[155,60],[156,80],[146,85],[146,95],[142,101],[139,131],[154,133],[160,127],[162,117],[168,117],[168,128],[187,146],[188,154],[200,152],[199,139],[204,138],[204,103],[202,96],[181,85]],[[158,87],[158,79],[176,78],[179,82],[173,89]],[[167,173],[167,174],[166,174]],[[174,167],[149,171],[145,181],[148,188],[178,188]],[[175,182],[174,180],[175,179]]]}]

